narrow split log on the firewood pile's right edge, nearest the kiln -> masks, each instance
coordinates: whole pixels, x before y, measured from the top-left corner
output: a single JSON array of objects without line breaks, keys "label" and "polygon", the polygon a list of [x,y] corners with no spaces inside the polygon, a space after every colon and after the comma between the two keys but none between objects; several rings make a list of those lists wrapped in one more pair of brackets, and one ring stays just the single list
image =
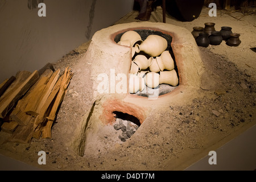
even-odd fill
[{"label": "narrow split log on the firewood pile's right edge, nearest the kiln", "polygon": [[53,121],[56,118],[57,109],[59,108],[61,102],[64,99],[68,85],[69,85],[72,77],[73,77],[73,73],[71,73],[71,69],[66,68],[63,78],[61,80],[60,90],[56,96],[55,101],[53,102],[51,112],[49,113],[49,115],[47,117],[46,126],[44,126],[42,129],[42,138],[52,138],[51,127],[52,127]]}]

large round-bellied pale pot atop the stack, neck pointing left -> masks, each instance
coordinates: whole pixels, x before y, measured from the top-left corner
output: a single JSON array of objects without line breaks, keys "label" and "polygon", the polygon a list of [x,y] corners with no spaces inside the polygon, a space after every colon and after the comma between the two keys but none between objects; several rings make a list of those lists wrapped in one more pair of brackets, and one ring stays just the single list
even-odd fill
[{"label": "large round-bellied pale pot atop the stack, neck pointing left", "polygon": [[162,36],[149,35],[141,45],[135,44],[135,51],[137,53],[143,51],[152,57],[156,57],[166,50],[167,44],[167,40]]}]

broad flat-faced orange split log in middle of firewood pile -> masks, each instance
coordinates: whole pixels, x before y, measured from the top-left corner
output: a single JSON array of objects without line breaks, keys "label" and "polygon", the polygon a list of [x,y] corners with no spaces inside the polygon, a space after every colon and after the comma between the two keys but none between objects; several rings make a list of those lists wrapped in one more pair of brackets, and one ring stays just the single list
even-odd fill
[{"label": "broad flat-faced orange split log in middle of firewood pile", "polygon": [[39,85],[39,87],[37,88],[38,90],[31,93],[32,102],[28,102],[26,109],[24,109],[27,114],[36,117],[40,113],[40,110],[42,109],[49,95],[51,94],[52,89],[55,86],[59,77],[60,69],[52,74],[46,85]]}]

